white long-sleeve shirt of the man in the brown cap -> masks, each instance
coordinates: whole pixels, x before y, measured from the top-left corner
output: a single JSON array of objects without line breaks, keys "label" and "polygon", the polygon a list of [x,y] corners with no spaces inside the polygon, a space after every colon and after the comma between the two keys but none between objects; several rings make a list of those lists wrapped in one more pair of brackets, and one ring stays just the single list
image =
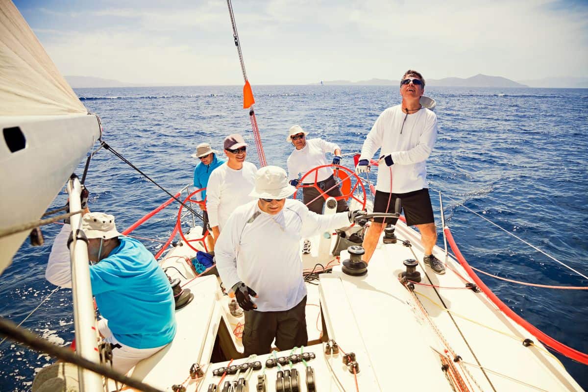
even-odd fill
[{"label": "white long-sleeve shirt of the man in the brown cap", "polygon": [[223,163],[211,173],[206,186],[206,210],[211,227],[222,230],[236,207],[257,200],[249,196],[255,185],[255,173],[257,167],[251,162],[243,162],[240,170]]}]

